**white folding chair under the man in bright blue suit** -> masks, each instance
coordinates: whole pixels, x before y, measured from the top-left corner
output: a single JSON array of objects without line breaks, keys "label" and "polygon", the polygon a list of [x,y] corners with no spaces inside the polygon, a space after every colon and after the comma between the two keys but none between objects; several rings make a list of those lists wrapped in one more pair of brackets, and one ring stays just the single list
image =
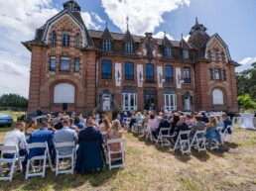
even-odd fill
[{"label": "white folding chair under the man in bright blue suit", "polygon": [[[37,155],[33,156],[32,158],[28,159],[27,163],[27,169],[26,169],[26,176],[25,178],[28,179],[28,177],[31,176],[42,176],[45,177],[46,175],[46,167],[51,167],[53,171],[53,165],[52,165],[52,160],[50,157],[50,152],[48,148],[48,143],[29,143],[28,146],[28,154],[30,153],[30,150],[32,148],[45,148],[44,154],[43,155]],[[49,165],[47,165],[47,159],[49,160]],[[34,160],[43,160],[43,166],[35,166],[33,164]],[[33,172],[30,173],[30,166],[32,167]],[[42,169],[41,172],[35,172],[37,169]]]}]

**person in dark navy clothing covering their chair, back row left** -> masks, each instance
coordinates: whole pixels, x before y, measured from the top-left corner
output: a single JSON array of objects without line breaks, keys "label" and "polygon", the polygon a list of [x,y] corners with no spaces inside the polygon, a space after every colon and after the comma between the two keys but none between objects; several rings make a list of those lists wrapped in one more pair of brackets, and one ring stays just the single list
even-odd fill
[{"label": "person in dark navy clothing covering their chair, back row left", "polygon": [[87,127],[81,130],[78,136],[79,147],[75,162],[75,170],[78,173],[102,168],[106,163],[102,134],[93,125],[93,119],[88,118]]}]

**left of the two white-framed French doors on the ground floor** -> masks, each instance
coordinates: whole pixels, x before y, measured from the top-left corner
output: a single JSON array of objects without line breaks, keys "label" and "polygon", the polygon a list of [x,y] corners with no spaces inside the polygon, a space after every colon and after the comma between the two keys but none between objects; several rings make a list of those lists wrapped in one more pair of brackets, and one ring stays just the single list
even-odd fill
[{"label": "left of the two white-framed French doors on the ground floor", "polygon": [[137,93],[122,93],[122,110],[137,111]]}]

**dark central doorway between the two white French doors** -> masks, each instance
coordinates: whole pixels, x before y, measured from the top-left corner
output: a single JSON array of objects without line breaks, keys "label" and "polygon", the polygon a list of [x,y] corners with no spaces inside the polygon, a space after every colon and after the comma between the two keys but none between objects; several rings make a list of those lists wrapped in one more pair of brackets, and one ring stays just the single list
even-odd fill
[{"label": "dark central doorway between the two white French doors", "polygon": [[144,110],[157,109],[157,96],[155,88],[145,88],[144,90]]}]

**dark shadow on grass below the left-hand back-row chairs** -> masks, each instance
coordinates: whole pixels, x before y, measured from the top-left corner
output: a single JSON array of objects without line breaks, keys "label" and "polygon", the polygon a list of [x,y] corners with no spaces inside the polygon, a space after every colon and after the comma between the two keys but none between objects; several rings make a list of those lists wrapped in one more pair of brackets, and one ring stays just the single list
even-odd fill
[{"label": "dark shadow on grass below the left-hand back-row chairs", "polygon": [[12,182],[3,181],[0,190],[69,190],[84,186],[85,190],[91,187],[100,187],[102,184],[116,176],[118,169],[101,170],[99,172],[89,172],[86,174],[61,174],[55,175],[55,171],[47,170],[46,176],[31,177],[25,180],[25,173],[15,172]]}]

